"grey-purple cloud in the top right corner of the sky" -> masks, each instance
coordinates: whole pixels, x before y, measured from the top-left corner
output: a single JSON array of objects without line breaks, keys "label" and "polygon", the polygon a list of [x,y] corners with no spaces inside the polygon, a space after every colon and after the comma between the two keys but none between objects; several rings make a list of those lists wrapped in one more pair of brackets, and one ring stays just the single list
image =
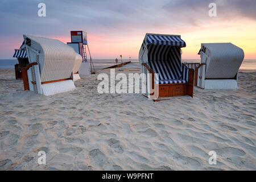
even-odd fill
[{"label": "grey-purple cloud in the top right corner of the sky", "polygon": [[209,3],[216,3],[217,18],[232,19],[236,17],[256,19],[255,0],[175,0],[168,2],[164,9],[171,14],[194,17],[195,19],[210,19]]}]

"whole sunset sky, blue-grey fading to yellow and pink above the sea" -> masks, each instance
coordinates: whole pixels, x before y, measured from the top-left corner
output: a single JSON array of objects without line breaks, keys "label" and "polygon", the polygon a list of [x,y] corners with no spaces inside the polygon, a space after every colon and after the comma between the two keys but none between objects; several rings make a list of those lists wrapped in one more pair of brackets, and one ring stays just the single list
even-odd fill
[{"label": "whole sunset sky, blue-grey fading to yellow and pink above the sea", "polygon": [[[38,16],[38,4],[46,16]],[[210,17],[209,3],[216,3]],[[183,59],[200,59],[201,43],[231,42],[256,59],[255,0],[1,0],[0,59],[11,59],[23,34],[71,42],[87,32],[93,59],[138,59],[146,33],[181,35]]]}]

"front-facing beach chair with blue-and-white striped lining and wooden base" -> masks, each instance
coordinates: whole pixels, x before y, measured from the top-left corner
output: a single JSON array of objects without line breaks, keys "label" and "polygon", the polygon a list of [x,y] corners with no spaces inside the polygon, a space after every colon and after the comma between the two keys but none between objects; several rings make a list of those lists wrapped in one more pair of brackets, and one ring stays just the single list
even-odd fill
[{"label": "front-facing beach chair with blue-and-white striped lining and wooden base", "polygon": [[139,51],[142,94],[148,98],[193,97],[193,69],[181,62],[180,35],[146,34]]}]

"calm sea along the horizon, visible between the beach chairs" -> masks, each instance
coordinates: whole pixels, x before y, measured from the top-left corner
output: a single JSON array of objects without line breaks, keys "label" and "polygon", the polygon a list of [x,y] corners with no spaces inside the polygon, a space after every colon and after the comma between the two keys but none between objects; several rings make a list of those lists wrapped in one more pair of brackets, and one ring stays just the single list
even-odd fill
[{"label": "calm sea along the horizon, visible between the beach chairs", "polygon": [[[123,62],[129,61],[127,59],[123,59]],[[199,59],[186,59],[183,60],[188,63],[200,63]],[[12,69],[14,65],[17,64],[18,61],[16,59],[0,59],[0,69]],[[118,64],[121,63],[121,60],[118,60]],[[93,65],[96,68],[105,68],[112,65],[115,65],[115,60],[113,59],[94,59]],[[127,68],[138,68],[139,61],[138,60],[131,60],[130,64],[125,65],[124,67]],[[240,67],[240,70],[244,71],[256,71],[256,60],[246,59],[243,60],[243,63]]]}]

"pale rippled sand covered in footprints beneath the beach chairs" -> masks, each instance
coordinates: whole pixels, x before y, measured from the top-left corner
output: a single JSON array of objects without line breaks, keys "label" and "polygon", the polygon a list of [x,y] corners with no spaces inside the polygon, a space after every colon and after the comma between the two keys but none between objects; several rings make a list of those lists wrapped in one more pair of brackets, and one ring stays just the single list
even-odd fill
[{"label": "pale rippled sand covered in footprints beneath the beach chairs", "polygon": [[238,90],[195,88],[193,98],[160,102],[99,94],[97,74],[47,97],[23,91],[14,69],[0,69],[0,169],[256,170],[256,72],[240,72]]}]

